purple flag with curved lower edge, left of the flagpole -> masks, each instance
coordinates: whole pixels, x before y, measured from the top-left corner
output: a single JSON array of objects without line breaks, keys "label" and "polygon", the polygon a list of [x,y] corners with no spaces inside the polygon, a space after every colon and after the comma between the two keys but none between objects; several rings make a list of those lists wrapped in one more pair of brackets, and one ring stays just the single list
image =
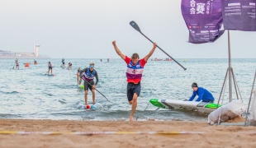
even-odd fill
[{"label": "purple flag with curved lower edge, left of the flagpole", "polygon": [[188,42],[214,42],[223,35],[221,0],[182,0],[182,14],[189,30]]}]

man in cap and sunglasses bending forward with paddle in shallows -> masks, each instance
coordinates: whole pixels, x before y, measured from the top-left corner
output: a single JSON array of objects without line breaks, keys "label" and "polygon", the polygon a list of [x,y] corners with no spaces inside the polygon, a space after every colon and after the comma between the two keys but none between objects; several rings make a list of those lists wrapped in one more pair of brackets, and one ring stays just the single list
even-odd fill
[{"label": "man in cap and sunglasses bending forward with paddle in shallows", "polygon": [[[97,71],[94,69],[94,62],[91,62],[89,67],[86,67],[82,71],[80,71],[80,76],[83,77],[84,81],[83,86],[85,105],[88,105],[88,89],[92,91],[92,104],[95,104],[95,88],[97,86],[98,76]],[[96,77],[95,83],[93,81],[94,77]]]}]

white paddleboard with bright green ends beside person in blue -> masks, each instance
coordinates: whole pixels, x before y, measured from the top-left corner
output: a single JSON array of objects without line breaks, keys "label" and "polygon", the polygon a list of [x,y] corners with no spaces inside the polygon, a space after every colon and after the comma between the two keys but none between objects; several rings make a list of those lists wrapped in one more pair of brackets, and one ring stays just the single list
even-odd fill
[{"label": "white paddleboard with bright green ends beside person in blue", "polygon": [[[202,113],[211,113],[217,107],[217,104],[214,103],[173,99],[150,99],[149,102],[163,109],[192,109]],[[218,107],[220,107],[220,104]]]}]

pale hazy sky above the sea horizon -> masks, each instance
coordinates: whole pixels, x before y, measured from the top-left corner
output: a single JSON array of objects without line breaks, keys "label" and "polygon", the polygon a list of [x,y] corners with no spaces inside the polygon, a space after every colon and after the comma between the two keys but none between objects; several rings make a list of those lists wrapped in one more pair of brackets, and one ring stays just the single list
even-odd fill
[{"label": "pale hazy sky above the sea horizon", "polygon": [[[145,57],[153,48],[172,58],[228,58],[228,31],[214,43],[190,44],[181,0],[0,0],[0,50],[50,58]],[[230,30],[231,58],[256,58],[256,32]],[[168,58],[156,49],[151,58]]]}]

